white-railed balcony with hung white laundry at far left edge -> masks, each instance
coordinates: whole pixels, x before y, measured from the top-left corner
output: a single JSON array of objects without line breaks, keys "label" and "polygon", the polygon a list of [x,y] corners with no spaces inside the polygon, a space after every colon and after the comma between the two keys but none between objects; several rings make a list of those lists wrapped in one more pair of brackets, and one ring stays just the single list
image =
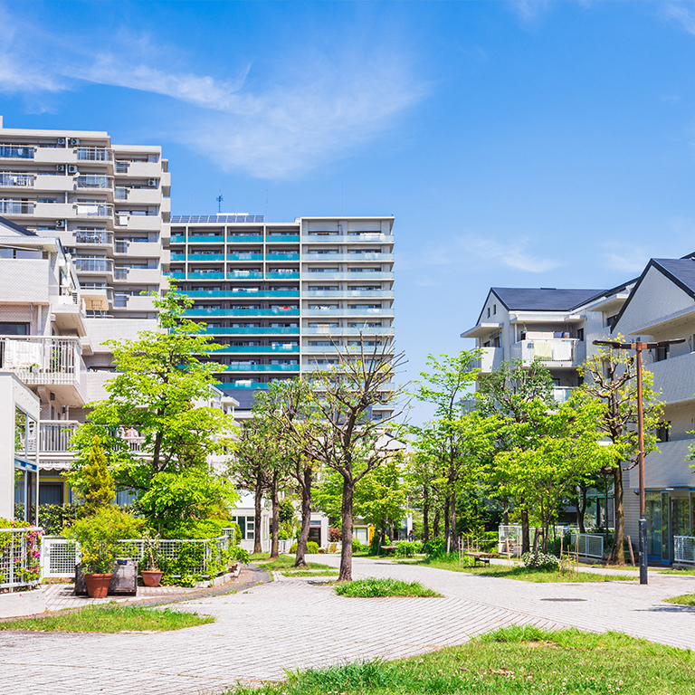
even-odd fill
[{"label": "white-railed balcony with hung white laundry at far left edge", "polygon": [[50,386],[64,405],[84,405],[79,338],[0,336],[0,370],[28,386]]}]

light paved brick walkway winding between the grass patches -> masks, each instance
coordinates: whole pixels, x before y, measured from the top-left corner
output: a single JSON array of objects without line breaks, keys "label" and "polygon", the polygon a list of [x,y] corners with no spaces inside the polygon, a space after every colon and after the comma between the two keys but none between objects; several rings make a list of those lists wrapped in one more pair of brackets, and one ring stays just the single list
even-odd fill
[{"label": "light paved brick walkway winding between the grass patches", "polygon": [[348,599],[317,586],[319,579],[278,577],[178,604],[217,618],[183,631],[0,633],[3,695],[220,692],[236,682],[281,679],[284,669],[423,653],[506,624],[612,628],[695,647],[695,609],[661,603],[667,595],[695,593],[695,577],[653,575],[647,587],[537,585],[386,560],[356,558],[354,567],[355,576],[418,580],[444,597]]}]

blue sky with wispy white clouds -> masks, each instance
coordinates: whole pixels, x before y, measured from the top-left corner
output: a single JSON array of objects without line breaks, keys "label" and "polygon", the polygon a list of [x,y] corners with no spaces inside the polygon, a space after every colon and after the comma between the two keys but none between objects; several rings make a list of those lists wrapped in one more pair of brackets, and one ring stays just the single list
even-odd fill
[{"label": "blue sky with wispy white clouds", "polygon": [[695,251],[690,2],[0,3],[9,128],[161,144],[172,212],[395,214],[414,376],[502,286]]}]

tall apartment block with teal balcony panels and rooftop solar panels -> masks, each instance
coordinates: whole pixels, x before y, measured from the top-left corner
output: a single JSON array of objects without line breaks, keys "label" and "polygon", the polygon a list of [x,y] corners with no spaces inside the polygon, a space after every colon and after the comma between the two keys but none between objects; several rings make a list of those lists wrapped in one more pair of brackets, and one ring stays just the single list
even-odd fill
[{"label": "tall apartment block with teal balcony panels and rooftop solar panels", "polygon": [[[165,249],[188,312],[224,348],[220,388],[250,409],[256,389],[337,364],[359,341],[391,346],[393,217],[173,216]],[[383,417],[390,408],[376,411]]]}]

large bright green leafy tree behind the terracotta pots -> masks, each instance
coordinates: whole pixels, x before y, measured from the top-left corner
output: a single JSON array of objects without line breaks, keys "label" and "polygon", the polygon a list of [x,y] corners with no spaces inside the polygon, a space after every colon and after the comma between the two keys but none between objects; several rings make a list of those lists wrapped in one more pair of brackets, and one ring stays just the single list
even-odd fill
[{"label": "large bright green leafy tree behind the terracotta pots", "polygon": [[[88,423],[74,433],[71,448],[85,452],[97,434],[117,485],[135,490],[137,501],[148,493],[148,510],[164,509],[181,492],[176,475],[184,471],[196,471],[182,479],[195,484],[209,478],[202,490],[211,498],[203,506],[228,506],[228,492],[214,482],[207,459],[225,453],[234,424],[218,408],[203,405],[218,368],[204,358],[217,346],[199,335],[201,324],[184,318],[193,300],[176,286],[154,303],[158,330],[141,331],[135,340],[110,341],[118,371],[105,386],[109,397],[90,404]],[[84,458],[78,455],[76,471]],[[167,501],[157,502],[157,494]]]}]

